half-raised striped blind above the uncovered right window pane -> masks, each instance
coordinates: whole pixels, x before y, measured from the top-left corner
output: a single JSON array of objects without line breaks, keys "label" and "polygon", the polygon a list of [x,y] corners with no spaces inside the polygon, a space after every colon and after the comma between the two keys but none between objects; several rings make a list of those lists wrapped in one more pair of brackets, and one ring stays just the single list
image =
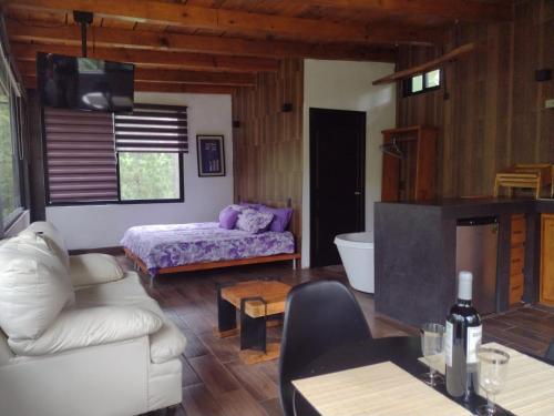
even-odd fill
[{"label": "half-raised striped blind above the uncovered right window pane", "polygon": [[135,104],[114,114],[117,152],[188,153],[186,106]]}]

